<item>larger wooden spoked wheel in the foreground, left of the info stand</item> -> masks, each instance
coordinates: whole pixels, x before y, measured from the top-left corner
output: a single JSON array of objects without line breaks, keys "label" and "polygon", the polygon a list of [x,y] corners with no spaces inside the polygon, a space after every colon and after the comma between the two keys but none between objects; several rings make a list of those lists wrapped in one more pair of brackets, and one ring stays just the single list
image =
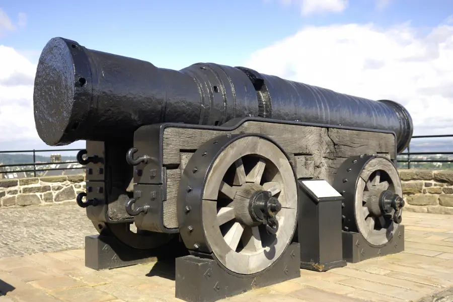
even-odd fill
[{"label": "larger wooden spoked wheel in the foreground, left of the info stand", "polygon": [[[250,212],[252,195],[262,191],[281,204],[274,235]],[[269,267],[289,245],[296,219],[295,177],[280,148],[246,136],[222,150],[206,178],[202,226],[207,245],[226,269],[253,274]]]}]

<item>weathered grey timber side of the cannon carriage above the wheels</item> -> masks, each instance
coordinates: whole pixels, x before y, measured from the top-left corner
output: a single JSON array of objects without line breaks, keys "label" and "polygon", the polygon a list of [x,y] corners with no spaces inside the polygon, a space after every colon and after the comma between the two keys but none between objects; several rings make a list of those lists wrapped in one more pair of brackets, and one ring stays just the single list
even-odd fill
[{"label": "weathered grey timber side of the cannon carriage above the wheels", "polygon": [[333,182],[336,170],[347,158],[361,154],[386,155],[395,159],[395,138],[389,133],[364,132],[312,126],[248,121],[233,131],[169,127],[164,131],[164,165],[167,170],[167,200],[164,225],[178,228],[176,192],[181,172],[191,152],[217,135],[261,133],[275,140],[289,155],[297,178],[320,178]]}]

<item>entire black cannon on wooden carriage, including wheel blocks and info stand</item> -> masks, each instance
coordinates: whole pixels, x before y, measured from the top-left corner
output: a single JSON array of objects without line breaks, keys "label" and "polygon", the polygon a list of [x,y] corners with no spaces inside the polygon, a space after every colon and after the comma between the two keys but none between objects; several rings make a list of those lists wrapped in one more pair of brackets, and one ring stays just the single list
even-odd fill
[{"label": "entire black cannon on wooden carriage, including wheel blocks and info stand", "polygon": [[214,300],[404,249],[396,157],[413,125],[396,102],[246,67],[158,68],[54,38],[34,114],[47,144],[87,141],[77,202],[100,232],[88,266],[133,264],[180,240],[190,255],[176,261],[176,295]]}]

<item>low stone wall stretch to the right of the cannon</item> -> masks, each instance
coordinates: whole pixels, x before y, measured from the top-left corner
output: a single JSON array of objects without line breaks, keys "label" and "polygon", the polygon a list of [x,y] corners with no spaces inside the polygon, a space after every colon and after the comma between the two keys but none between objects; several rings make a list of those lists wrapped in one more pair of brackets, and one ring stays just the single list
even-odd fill
[{"label": "low stone wall stretch to the right of the cannon", "polygon": [[453,214],[453,171],[400,169],[399,173],[406,200],[404,210]]}]

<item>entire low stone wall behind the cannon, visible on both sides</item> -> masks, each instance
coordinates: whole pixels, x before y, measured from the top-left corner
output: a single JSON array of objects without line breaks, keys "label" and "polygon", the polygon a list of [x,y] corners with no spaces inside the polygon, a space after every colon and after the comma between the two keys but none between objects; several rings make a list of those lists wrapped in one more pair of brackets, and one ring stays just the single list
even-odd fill
[{"label": "entire low stone wall behind the cannon, visible on both sides", "polygon": [[[400,169],[405,210],[453,214],[453,171]],[[73,204],[85,175],[0,180],[0,207]]]}]

